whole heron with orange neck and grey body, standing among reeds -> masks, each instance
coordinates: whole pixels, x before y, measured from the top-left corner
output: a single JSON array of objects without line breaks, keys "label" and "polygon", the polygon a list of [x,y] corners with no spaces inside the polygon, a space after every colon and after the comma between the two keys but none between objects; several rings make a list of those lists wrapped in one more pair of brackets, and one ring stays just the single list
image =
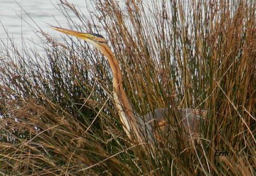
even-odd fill
[{"label": "whole heron with orange neck and grey body, standing among reeds", "polygon": [[[109,61],[112,77],[113,77],[113,97],[115,106],[120,116],[122,127],[127,136],[139,143],[154,144],[155,142],[163,142],[163,134],[168,134],[166,124],[170,118],[170,108],[158,108],[145,116],[140,116],[129,102],[124,87],[122,85],[122,72],[119,66],[119,61],[112,53],[107,41],[102,35],[95,33],[83,33],[65,28],[52,27],[58,32],[73,35],[77,38],[95,46]],[[177,108],[175,115],[179,116],[178,124],[184,129],[186,134],[198,132],[199,123],[206,116],[207,111],[199,111],[192,108]]]}]

